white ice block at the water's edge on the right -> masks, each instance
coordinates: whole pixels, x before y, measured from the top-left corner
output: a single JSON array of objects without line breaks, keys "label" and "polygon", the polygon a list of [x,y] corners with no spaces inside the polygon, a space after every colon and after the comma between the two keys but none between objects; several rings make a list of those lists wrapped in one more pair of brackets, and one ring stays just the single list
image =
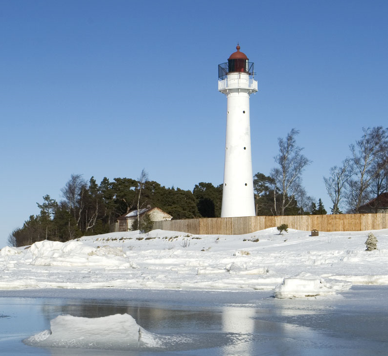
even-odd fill
[{"label": "white ice block at the water's edge on the right", "polygon": [[351,287],[350,282],[331,280],[327,281],[307,272],[295,277],[283,279],[283,283],[275,287],[276,298],[301,298],[317,295],[330,295],[346,291]]}]

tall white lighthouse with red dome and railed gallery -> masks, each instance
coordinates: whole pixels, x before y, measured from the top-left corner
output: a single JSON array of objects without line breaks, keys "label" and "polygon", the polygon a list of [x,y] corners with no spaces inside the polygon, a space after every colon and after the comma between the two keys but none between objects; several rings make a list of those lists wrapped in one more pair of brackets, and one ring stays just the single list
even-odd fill
[{"label": "tall white lighthouse with red dome and railed gallery", "polygon": [[237,51],[218,65],[218,91],[227,96],[221,217],[254,216],[249,98],[257,92],[253,63]]}]

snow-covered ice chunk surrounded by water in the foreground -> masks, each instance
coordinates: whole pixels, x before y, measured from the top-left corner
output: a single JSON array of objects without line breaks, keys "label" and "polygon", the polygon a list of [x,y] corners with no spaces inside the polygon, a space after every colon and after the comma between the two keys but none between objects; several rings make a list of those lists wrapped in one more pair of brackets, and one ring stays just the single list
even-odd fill
[{"label": "snow-covered ice chunk surrounded by water in the foreground", "polygon": [[99,318],[59,315],[45,330],[23,340],[30,346],[130,350],[139,347],[158,347],[158,335],[140,327],[128,314]]}]

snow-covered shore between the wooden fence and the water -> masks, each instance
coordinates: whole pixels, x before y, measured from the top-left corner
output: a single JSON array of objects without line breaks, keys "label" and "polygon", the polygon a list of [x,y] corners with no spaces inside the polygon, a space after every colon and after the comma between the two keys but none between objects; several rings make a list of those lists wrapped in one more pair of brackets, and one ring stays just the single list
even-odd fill
[{"label": "snow-covered shore between the wooden fence and the water", "polygon": [[[378,250],[365,251],[368,233]],[[0,251],[0,289],[274,291],[278,298],[338,294],[352,284],[388,285],[388,229],[276,228],[246,235],[153,230]]]}]

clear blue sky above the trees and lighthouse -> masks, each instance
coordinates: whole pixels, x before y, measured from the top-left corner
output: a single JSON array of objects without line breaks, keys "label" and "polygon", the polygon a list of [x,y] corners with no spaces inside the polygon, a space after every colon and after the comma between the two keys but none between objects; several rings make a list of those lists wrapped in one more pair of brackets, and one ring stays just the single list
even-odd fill
[{"label": "clear blue sky above the trees and lighthouse", "polygon": [[387,126],[388,1],[0,0],[0,246],[70,174],[222,183],[217,65],[255,63],[253,172],[300,130],[309,195],[362,127]]}]

